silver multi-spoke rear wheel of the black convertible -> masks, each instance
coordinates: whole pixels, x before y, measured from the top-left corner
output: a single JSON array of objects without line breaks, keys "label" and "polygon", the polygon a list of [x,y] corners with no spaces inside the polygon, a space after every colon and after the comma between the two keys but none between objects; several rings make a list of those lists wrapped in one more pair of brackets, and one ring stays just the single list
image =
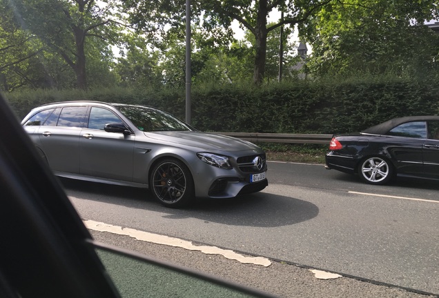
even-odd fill
[{"label": "silver multi-spoke rear wheel of the black convertible", "polygon": [[393,168],[387,159],[368,157],[358,168],[360,178],[370,184],[384,184],[393,177]]}]

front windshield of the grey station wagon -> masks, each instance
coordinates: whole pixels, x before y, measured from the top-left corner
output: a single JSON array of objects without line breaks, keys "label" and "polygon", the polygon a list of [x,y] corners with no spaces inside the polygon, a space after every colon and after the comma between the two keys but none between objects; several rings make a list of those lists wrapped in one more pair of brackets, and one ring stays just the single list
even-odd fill
[{"label": "front windshield of the grey station wagon", "polygon": [[154,131],[186,131],[191,130],[186,123],[170,114],[144,106],[117,106],[139,130]]}]

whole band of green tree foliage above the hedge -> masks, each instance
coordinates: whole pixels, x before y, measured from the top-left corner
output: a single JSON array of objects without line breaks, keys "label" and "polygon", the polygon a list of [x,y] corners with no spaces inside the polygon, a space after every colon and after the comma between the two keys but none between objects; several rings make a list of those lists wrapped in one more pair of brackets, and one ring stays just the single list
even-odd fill
[{"label": "whole band of green tree foliage above the hedge", "polygon": [[[310,77],[439,73],[438,0],[192,0],[192,83],[272,83],[284,26],[285,79],[313,47]],[[186,0],[0,0],[0,86],[182,88]],[[284,12],[268,21],[269,14]],[[233,38],[238,21],[246,37]],[[122,26],[121,23],[124,23]],[[122,31],[124,28],[124,31]],[[121,46],[115,57],[114,46]]]}]

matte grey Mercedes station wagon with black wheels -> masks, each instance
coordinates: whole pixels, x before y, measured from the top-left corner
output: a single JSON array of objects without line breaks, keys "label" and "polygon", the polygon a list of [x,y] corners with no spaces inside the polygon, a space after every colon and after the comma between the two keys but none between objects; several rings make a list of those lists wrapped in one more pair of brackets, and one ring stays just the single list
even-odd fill
[{"label": "matte grey Mercedes station wagon with black wheels", "polygon": [[55,175],[149,188],[164,206],[231,198],[268,185],[255,144],[199,132],[162,110],[98,101],[50,103],[21,122]]}]

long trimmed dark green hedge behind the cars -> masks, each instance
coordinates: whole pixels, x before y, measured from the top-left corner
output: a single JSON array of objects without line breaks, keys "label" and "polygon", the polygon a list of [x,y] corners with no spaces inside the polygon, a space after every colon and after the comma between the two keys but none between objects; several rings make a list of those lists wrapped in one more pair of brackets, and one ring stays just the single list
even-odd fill
[{"label": "long trimmed dark green hedge behind the cars", "polygon": [[[433,80],[300,81],[255,86],[203,86],[192,90],[192,125],[222,132],[340,133],[394,117],[438,115]],[[17,117],[53,101],[77,99],[138,103],[185,117],[184,90],[35,90],[6,95]]]}]

